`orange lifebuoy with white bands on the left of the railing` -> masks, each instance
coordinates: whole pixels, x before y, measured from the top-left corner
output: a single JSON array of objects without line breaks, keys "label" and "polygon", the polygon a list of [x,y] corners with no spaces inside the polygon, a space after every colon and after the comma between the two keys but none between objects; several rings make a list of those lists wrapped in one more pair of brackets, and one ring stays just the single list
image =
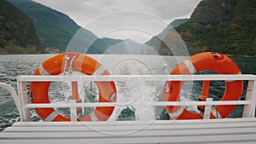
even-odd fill
[{"label": "orange lifebuoy with white bands on the left of the railing", "polygon": [[[39,66],[34,75],[59,75],[63,72],[74,71],[82,72],[86,75],[109,75],[109,72],[96,60],[89,56],[79,53],[63,53],[55,55],[45,60]],[[32,82],[30,93],[32,103],[50,103],[49,101],[49,84],[51,82]],[[76,82],[72,82],[73,87],[77,87]],[[99,102],[116,101],[116,88],[114,82],[96,82],[99,90]],[[77,88],[75,88],[77,89]],[[78,93],[74,91],[73,94]],[[74,98],[77,100],[77,98]],[[105,121],[111,116],[114,107],[96,107],[89,115],[78,118],[79,121]],[[35,108],[38,116],[44,121],[70,121],[54,108]]]}]

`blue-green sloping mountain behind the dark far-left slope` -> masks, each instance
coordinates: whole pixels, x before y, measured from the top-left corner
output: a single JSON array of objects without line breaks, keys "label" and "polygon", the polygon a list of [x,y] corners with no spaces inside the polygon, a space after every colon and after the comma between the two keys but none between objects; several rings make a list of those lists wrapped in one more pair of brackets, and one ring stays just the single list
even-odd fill
[{"label": "blue-green sloping mountain behind the dark far-left slope", "polygon": [[[55,48],[66,51],[68,43],[78,31],[81,37],[75,40],[79,40],[78,43],[80,45],[76,44],[75,46],[84,46],[86,50],[88,50],[88,53],[91,54],[101,54],[104,52],[102,49],[106,49],[101,39],[98,39],[92,32],[82,29],[81,26],[77,25],[67,14],[62,14],[55,9],[50,9],[49,7],[31,0],[8,1],[32,18],[44,49]],[[79,49],[77,52],[84,52],[84,50],[81,51],[84,47],[73,48],[73,50]],[[71,48],[69,48],[69,50],[71,50]]]}]

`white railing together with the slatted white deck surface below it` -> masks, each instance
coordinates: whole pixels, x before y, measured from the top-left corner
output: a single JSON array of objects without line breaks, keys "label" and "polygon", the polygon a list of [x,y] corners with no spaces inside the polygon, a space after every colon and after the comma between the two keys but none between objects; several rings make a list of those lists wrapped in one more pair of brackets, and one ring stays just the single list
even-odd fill
[{"label": "white railing together with the slatted white deck surface below it", "polygon": [[[73,81],[129,81],[139,78],[143,81],[205,81],[236,80],[247,81],[245,100],[239,101],[139,101],[129,106],[199,106],[204,105],[204,119],[196,120],[155,120],[141,121],[105,121],[77,122],[76,107],[120,107],[118,102],[75,103],[31,103],[28,94],[28,82],[73,82]],[[0,133],[0,144],[84,144],[84,143],[256,143],[256,76],[254,75],[132,75],[132,76],[20,76],[17,78],[18,95],[8,84],[0,87],[8,89],[20,112],[20,121]],[[241,105],[244,107],[242,118],[209,119],[213,106]],[[128,104],[127,104],[128,106]],[[67,107],[71,122],[32,122],[32,108]],[[142,113],[142,112],[141,112]]]}]

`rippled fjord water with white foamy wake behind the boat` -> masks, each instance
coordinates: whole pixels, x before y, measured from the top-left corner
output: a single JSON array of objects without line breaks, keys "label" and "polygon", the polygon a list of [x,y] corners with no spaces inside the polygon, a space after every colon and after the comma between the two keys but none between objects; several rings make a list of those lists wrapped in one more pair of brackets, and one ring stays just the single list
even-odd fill
[{"label": "rippled fjord water with white foamy wake behind the boat", "polygon": [[[0,82],[10,84],[16,87],[16,78],[20,75],[31,75],[40,64],[53,55],[0,55]],[[177,59],[183,60],[183,57],[159,56],[159,55],[90,55],[99,60],[102,65],[114,75],[159,75],[168,74],[177,66]],[[241,68],[242,73],[256,74],[255,57],[232,57],[232,59]],[[118,91],[118,102],[131,103],[134,101],[161,101],[162,89],[165,82],[139,82],[139,79],[131,79],[129,83],[115,82]],[[27,84],[29,86],[29,84]],[[86,84],[85,84],[86,85]],[[193,85],[192,94],[182,99],[195,100],[201,94],[201,83]],[[245,86],[247,83],[245,83]],[[211,85],[210,96],[219,99],[223,95],[224,83],[219,82]],[[184,87],[191,87],[185,84]],[[63,88],[54,89],[51,97],[55,96]],[[64,97],[71,95],[70,86],[67,84],[67,92],[62,93]],[[97,94],[94,88],[95,95]],[[245,96],[245,91],[241,99]],[[186,94],[186,90],[183,95]],[[142,99],[139,99],[141,97]],[[195,107],[188,107],[196,111]],[[61,111],[61,110],[60,110]],[[125,113],[130,112],[130,113]],[[68,112],[67,112],[68,113]],[[63,113],[63,114],[67,114]],[[125,113],[125,114],[124,114]],[[230,114],[230,117],[241,117],[242,107],[237,107],[236,111]],[[130,116],[131,118],[124,118]],[[35,112],[32,112],[32,119],[39,120]],[[133,120],[133,119],[168,119],[163,107],[116,107],[110,120]],[[20,120],[14,101],[5,89],[0,89],[0,130],[5,129],[16,121]]]}]

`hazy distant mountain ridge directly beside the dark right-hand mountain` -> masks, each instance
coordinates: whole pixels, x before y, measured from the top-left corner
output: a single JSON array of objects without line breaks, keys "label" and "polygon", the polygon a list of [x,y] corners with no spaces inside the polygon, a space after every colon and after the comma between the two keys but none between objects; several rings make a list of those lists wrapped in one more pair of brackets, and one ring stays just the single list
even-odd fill
[{"label": "hazy distant mountain ridge directly beside the dark right-hand mountain", "polygon": [[[152,37],[148,42],[146,42],[145,44],[148,45],[149,47],[152,48],[151,52],[154,50],[155,52],[159,52],[160,47],[161,47],[161,43],[163,41],[163,39],[166,37],[167,33],[170,32],[173,28],[180,26],[181,24],[187,22],[188,19],[177,19],[177,20],[173,20],[162,32],[160,32],[160,34],[158,34],[157,36]],[[144,53],[148,54],[152,54],[149,51],[144,51]],[[166,53],[166,55],[169,53]]]}]

